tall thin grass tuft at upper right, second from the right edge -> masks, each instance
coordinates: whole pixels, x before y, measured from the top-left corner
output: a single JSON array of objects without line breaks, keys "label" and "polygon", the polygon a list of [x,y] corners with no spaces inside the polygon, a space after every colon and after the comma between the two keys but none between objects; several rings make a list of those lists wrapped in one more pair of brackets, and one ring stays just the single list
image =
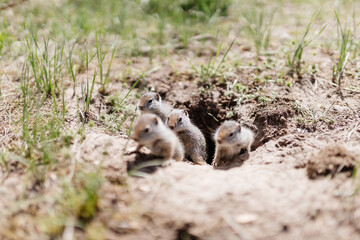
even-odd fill
[{"label": "tall thin grass tuft at upper right, second from the right edge", "polygon": [[301,78],[301,64],[304,48],[307,47],[312,41],[314,41],[325,29],[326,24],[315,34],[313,31],[313,23],[318,17],[320,11],[315,12],[312,16],[310,22],[306,26],[305,32],[302,35],[301,39],[298,41],[295,52],[292,57],[288,55],[288,66],[290,68],[288,74],[293,76],[294,73],[297,74],[298,78]]}]

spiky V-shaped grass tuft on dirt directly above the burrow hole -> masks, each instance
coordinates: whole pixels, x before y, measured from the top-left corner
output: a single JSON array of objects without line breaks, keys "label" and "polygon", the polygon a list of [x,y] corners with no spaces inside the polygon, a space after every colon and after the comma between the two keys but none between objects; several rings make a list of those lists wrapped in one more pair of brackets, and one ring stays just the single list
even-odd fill
[{"label": "spiky V-shaped grass tuft on dirt directly above the burrow hole", "polygon": [[184,58],[188,63],[190,63],[192,69],[194,69],[195,72],[199,75],[199,77],[201,78],[203,83],[206,83],[208,80],[211,80],[215,76],[218,76],[219,69],[220,69],[221,65],[224,63],[225,58],[228,55],[229,51],[231,50],[231,48],[234,44],[234,41],[235,40],[233,40],[231,42],[229,48],[226,50],[224,56],[222,57],[220,63],[217,66],[215,66],[215,64],[216,64],[217,58],[219,57],[222,43],[218,47],[217,53],[215,55],[215,59],[213,59],[213,55],[211,55],[209,58],[209,62],[207,64],[201,64],[200,69],[195,67],[195,65],[192,63],[192,61],[190,59],[188,59],[185,56],[184,56]]}]

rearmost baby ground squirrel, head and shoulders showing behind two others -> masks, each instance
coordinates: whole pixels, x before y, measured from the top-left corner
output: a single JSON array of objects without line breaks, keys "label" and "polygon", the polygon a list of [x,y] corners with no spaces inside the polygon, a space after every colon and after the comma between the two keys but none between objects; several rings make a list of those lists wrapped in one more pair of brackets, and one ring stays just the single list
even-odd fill
[{"label": "rearmost baby ground squirrel, head and shoulders showing behind two others", "polygon": [[165,122],[166,117],[171,112],[171,107],[168,104],[161,102],[160,95],[154,92],[147,92],[142,95],[138,106],[141,114],[156,114],[163,122]]}]

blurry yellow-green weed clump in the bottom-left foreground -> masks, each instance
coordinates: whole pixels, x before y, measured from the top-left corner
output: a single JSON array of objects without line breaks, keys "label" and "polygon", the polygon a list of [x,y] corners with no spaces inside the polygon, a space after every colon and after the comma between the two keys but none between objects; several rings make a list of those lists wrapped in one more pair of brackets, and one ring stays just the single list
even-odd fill
[{"label": "blurry yellow-green weed clump in the bottom-left foreground", "polygon": [[86,228],[97,211],[102,182],[99,171],[76,173],[72,182],[64,183],[61,195],[48,214],[39,217],[40,229],[54,237],[61,234],[69,224]]}]

